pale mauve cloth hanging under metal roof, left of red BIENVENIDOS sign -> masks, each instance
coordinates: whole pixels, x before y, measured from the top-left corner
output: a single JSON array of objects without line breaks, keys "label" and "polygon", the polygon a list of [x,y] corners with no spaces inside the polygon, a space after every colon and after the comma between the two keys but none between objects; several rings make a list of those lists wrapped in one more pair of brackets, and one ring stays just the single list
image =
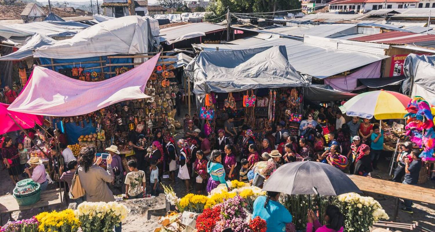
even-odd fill
[{"label": "pale mauve cloth hanging under metal roof, left of red BIENVENIDOS sign", "polygon": [[327,78],[325,84],[329,84],[339,91],[351,92],[367,87],[365,85],[358,86],[358,79],[379,77],[381,77],[381,61],[376,61],[347,76]]}]

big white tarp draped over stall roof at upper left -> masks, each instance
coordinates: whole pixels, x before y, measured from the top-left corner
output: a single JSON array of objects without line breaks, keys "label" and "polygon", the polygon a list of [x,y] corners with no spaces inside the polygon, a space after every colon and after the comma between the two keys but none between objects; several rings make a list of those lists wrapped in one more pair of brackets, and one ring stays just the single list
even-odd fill
[{"label": "big white tarp draped over stall roof at upper left", "polygon": [[75,59],[148,51],[148,17],[126,16],[89,27],[74,37],[35,50],[34,57]]}]

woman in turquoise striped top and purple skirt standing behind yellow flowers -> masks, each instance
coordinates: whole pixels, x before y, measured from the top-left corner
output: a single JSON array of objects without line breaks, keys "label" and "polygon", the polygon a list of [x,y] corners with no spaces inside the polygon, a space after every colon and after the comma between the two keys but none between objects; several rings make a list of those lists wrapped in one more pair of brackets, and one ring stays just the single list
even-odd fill
[{"label": "woman in turquoise striped top and purple skirt standing behind yellow flowers", "polygon": [[210,174],[210,178],[208,178],[207,182],[207,193],[210,193],[211,190],[218,187],[219,184],[227,185],[227,182],[225,181],[225,169],[224,165],[221,164],[221,161],[221,151],[211,151],[210,161],[207,163],[207,172]]}]

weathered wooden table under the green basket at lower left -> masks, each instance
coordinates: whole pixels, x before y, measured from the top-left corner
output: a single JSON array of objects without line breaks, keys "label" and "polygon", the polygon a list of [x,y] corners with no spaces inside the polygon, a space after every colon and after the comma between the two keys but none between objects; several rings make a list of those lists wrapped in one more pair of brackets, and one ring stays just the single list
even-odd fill
[{"label": "weathered wooden table under the green basket at lower left", "polygon": [[41,199],[33,205],[20,206],[11,194],[0,197],[0,213],[29,210],[62,203],[59,188],[41,192]]}]

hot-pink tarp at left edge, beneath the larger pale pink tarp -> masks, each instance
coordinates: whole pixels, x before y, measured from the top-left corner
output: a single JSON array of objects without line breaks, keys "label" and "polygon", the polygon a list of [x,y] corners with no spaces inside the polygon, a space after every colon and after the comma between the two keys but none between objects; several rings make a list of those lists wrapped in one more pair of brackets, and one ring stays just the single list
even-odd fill
[{"label": "hot-pink tarp at left edge, beneath the larger pale pink tarp", "polygon": [[33,128],[35,123],[43,124],[42,116],[8,111],[8,106],[8,104],[0,103],[0,134],[20,130],[20,127],[13,120],[20,124],[23,129]]}]

